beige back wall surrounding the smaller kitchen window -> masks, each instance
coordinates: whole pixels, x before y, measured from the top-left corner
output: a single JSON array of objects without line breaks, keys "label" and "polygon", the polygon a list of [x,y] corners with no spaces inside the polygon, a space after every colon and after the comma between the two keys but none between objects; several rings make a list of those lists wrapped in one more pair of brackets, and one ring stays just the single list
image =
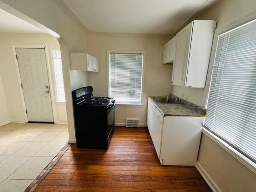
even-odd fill
[{"label": "beige back wall surrounding the smaller kitchen window", "polygon": [[163,44],[170,37],[143,34],[100,33],[86,34],[88,54],[100,60],[99,72],[88,72],[88,84],[93,86],[95,96],[108,96],[107,92],[107,50],[146,51],[143,84],[143,106],[117,106],[116,124],[124,125],[126,118],[140,118],[146,126],[148,96],[166,96],[170,93],[172,65],[162,65]]}]

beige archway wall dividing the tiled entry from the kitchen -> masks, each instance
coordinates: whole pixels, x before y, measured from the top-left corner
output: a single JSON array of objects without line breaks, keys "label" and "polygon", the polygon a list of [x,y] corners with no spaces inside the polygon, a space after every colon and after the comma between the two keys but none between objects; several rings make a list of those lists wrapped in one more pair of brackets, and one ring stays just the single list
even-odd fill
[{"label": "beige archway wall dividing the tiled entry from the kitchen", "polygon": [[70,72],[69,52],[86,52],[85,26],[63,0],[0,0],[0,8],[58,38],[62,53],[68,132],[70,142],[74,142],[70,90],[86,85],[86,72]]}]

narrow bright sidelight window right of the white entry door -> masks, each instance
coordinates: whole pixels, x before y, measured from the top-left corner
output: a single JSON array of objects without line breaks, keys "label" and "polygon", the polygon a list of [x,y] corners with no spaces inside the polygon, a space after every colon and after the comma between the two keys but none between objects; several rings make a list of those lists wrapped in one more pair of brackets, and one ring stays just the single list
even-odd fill
[{"label": "narrow bright sidelight window right of the white entry door", "polygon": [[62,63],[60,50],[52,50],[52,58],[54,65],[54,77],[55,77],[55,90],[56,99],[58,102],[65,102],[65,92],[64,92],[64,80],[62,73]]}]

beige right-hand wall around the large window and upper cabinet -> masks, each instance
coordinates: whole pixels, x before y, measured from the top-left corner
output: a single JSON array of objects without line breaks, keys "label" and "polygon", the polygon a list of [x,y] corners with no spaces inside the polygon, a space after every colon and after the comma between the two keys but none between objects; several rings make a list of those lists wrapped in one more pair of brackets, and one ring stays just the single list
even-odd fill
[{"label": "beige right-hand wall around the large window and upper cabinet", "polygon": [[[219,28],[255,9],[255,0],[221,0],[212,8],[195,14],[191,20],[216,20],[217,28]],[[172,93],[204,106],[204,88],[173,86]],[[197,163],[202,166],[222,192],[256,191],[256,175],[205,134],[202,134]]]}]

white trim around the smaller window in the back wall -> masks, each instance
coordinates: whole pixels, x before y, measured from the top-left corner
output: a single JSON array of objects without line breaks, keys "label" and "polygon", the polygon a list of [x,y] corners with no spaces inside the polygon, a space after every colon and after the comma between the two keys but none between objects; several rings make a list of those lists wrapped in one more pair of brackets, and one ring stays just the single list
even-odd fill
[{"label": "white trim around the smaller window in the back wall", "polygon": [[107,91],[108,91],[108,97],[109,97],[109,55],[110,53],[139,53],[143,55],[142,60],[142,82],[141,82],[141,95],[140,95],[140,102],[116,102],[116,105],[120,106],[141,106],[143,104],[143,88],[144,88],[144,74],[145,74],[145,64],[146,64],[146,51],[137,51],[137,50],[107,50]]}]

